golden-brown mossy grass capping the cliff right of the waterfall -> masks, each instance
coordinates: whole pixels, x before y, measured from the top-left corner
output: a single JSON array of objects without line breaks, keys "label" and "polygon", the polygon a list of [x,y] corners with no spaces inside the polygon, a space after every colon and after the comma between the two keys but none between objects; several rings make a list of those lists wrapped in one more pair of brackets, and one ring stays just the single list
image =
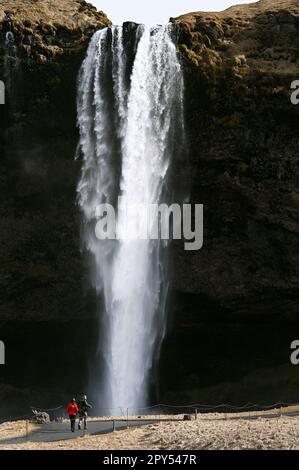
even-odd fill
[{"label": "golden-brown mossy grass capping the cliff right of the waterfall", "polygon": [[262,0],[171,21],[179,25],[187,61],[209,79],[228,69],[240,78],[255,71],[274,77],[298,72],[299,5],[295,0]]}]

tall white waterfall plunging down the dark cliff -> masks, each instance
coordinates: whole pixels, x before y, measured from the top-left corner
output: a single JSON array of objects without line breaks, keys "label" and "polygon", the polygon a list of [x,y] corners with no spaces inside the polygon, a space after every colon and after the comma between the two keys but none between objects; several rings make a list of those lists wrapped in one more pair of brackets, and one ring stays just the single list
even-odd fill
[{"label": "tall white waterfall plunging down the dark cliff", "polygon": [[184,139],[183,76],[172,36],[171,25],[139,26],[128,70],[123,28],[98,31],[78,80],[78,149],[83,156],[78,201],[92,285],[104,299],[101,406],[111,413],[116,407],[137,409],[148,403],[166,328],[169,243],[99,240],[96,207],[115,205],[122,196],[121,230],[127,224],[122,204],[171,200],[172,162]]}]

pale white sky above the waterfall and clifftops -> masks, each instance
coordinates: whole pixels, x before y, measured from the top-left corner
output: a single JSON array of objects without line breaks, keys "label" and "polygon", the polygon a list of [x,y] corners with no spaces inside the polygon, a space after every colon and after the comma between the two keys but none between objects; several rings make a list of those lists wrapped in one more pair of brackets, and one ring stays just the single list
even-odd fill
[{"label": "pale white sky above the waterfall and clifftops", "polygon": [[88,0],[117,25],[135,21],[150,26],[166,24],[171,16],[193,11],[221,11],[250,0]]}]

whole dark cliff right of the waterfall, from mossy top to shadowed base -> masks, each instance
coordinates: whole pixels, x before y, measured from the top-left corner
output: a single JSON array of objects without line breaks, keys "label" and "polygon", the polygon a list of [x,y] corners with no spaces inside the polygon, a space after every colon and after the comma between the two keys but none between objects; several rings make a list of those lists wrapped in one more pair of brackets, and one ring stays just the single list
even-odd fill
[{"label": "whole dark cliff right of the waterfall, from mossy top to shadowed base", "polygon": [[200,252],[176,252],[177,320],[163,373],[179,350],[170,374],[179,364],[182,389],[218,383],[182,400],[296,400],[299,106],[290,85],[299,78],[299,5],[261,1],[172,21],[185,63],[191,201],[204,204],[205,241]]}]

